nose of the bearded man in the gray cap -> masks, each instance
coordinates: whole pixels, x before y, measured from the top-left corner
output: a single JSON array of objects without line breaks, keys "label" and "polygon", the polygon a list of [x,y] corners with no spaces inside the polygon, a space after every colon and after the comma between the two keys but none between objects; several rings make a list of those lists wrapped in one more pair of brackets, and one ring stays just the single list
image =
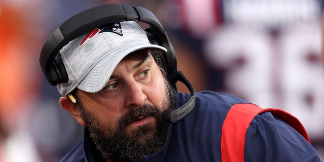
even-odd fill
[{"label": "nose of the bearded man in the gray cap", "polygon": [[144,94],[143,87],[139,83],[131,83],[128,86],[128,90],[126,90],[126,107],[137,107],[142,106],[147,99]]}]

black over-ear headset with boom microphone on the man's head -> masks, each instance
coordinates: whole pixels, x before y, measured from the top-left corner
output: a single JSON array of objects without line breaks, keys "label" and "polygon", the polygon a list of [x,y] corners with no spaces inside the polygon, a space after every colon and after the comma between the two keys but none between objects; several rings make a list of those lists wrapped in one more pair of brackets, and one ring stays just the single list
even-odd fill
[{"label": "black over-ear headset with boom microphone on the man's head", "polygon": [[189,80],[181,71],[177,70],[176,55],[166,31],[156,16],[145,8],[107,4],[74,15],[56,29],[46,41],[39,57],[39,63],[51,85],[56,86],[68,82],[68,75],[60,55],[60,50],[65,45],[96,27],[135,19],[149,25],[145,32],[151,44],[165,47],[168,50],[166,53],[158,52],[154,55],[156,55],[160,66],[166,70],[171,86],[176,89],[176,82],[179,80],[187,86],[191,93],[191,98],[184,105],[177,109],[167,109],[162,113],[162,118],[166,122],[174,124],[191,112],[196,96]]}]

